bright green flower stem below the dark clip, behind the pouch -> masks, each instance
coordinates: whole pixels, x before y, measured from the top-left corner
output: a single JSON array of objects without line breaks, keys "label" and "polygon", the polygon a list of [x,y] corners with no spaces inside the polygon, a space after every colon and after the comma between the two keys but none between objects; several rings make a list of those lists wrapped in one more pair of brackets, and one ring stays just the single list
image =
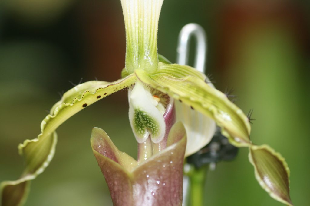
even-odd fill
[{"label": "bright green flower stem below the dark clip, behind the pouch", "polygon": [[188,173],[190,181],[189,205],[204,205],[204,189],[208,169],[209,165],[204,165],[200,168],[195,168],[194,166],[192,166],[190,172]]}]

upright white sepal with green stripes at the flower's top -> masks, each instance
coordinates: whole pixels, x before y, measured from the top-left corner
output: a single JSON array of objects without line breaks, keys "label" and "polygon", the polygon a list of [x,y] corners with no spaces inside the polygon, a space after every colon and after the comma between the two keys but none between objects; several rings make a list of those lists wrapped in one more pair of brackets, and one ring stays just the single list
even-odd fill
[{"label": "upright white sepal with green stripes at the flower's top", "polygon": [[157,28],[163,0],[121,0],[126,29],[126,70],[157,70]]}]

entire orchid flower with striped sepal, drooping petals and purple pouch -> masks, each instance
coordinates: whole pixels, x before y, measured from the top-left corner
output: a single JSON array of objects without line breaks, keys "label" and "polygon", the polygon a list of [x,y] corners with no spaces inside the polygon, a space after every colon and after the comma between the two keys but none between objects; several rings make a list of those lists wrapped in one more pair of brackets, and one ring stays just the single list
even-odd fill
[{"label": "entire orchid flower with striped sepal, drooping petals and purple pouch", "polygon": [[119,151],[103,130],[94,128],[91,135],[93,153],[114,205],[181,205],[184,156],[208,144],[216,125],[232,145],[249,148],[250,163],[263,189],[272,198],[292,205],[285,160],[267,145],[252,144],[249,119],[241,109],[208,83],[205,74],[190,66],[172,64],[157,53],[163,0],[121,3],[126,29],[122,79],[85,82],[63,95],[42,121],[41,134],[18,146],[26,166],[20,179],[1,184],[2,206],[24,203],[29,182],[46,169],[54,156],[55,130],[60,124],[125,88],[129,121],[138,142],[138,160]]}]

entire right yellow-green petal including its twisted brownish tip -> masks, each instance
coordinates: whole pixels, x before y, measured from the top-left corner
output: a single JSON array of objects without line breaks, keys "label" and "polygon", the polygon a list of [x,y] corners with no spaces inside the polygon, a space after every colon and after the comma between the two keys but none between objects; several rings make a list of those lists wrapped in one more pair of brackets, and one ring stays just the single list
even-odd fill
[{"label": "entire right yellow-green petal including its twisted brownish tip", "polygon": [[[181,75],[174,69],[183,66],[160,64],[162,64],[162,69],[154,74],[147,74],[140,70],[136,70],[135,74],[144,84],[178,99],[215,120],[216,124],[222,128],[223,135],[233,145],[249,147],[249,160],[254,166],[255,177],[259,184],[272,198],[292,206],[289,195],[289,169],[284,158],[266,145],[252,144],[249,137],[249,120],[241,109],[199,76],[190,74],[193,71],[189,70],[187,74]],[[186,69],[188,67],[183,67],[183,70]],[[188,141],[192,141],[190,135],[188,135]]]}]

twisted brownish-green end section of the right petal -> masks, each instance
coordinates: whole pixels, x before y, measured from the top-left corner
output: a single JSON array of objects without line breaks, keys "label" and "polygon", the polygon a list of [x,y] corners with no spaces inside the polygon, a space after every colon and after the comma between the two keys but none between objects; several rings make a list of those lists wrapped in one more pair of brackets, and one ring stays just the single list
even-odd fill
[{"label": "twisted brownish-green end section of the right petal", "polygon": [[254,166],[255,178],[275,200],[292,206],[290,200],[290,170],[281,154],[268,145],[250,147],[249,160]]}]

